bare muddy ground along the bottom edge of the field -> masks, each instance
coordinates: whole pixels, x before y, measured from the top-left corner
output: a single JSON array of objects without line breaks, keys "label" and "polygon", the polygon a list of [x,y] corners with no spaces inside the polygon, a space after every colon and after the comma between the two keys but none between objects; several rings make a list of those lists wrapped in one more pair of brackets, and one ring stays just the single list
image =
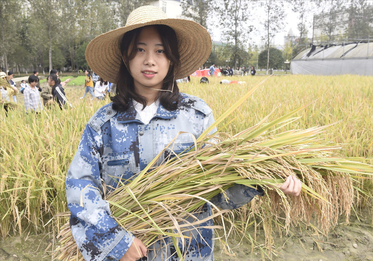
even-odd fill
[{"label": "bare muddy ground along the bottom edge of the field", "polygon": [[[369,216],[369,215],[368,215]],[[343,218],[341,218],[341,222]],[[291,229],[287,236],[275,235],[273,260],[287,261],[368,261],[373,260],[372,219],[351,217],[350,224],[338,224],[328,237],[310,236],[311,230]],[[262,239],[259,238],[258,241]],[[238,238],[230,238],[234,256],[221,253],[220,244],[215,244],[216,261],[260,261],[261,251],[248,242],[238,243]],[[49,261],[50,253],[44,251],[51,242],[49,234],[9,237],[1,240],[1,261]],[[238,246],[237,246],[238,245]],[[321,249],[321,250],[320,250]],[[265,258],[268,260],[268,258]]]}]

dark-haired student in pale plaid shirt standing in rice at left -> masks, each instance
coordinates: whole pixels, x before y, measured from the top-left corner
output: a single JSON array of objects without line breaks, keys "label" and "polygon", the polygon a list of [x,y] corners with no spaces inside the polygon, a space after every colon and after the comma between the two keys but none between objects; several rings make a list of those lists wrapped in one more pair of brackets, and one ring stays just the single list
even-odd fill
[{"label": "dark-haired student in pale plaid shirt standing in rice at left", "polygon": [[29,86],[23,91],[23,96],[25,98],[25,110],[26,113],[31,111],[41,112],[43,106],[41,105],[41,100],[39,96],[39,91],[35,86],[39,82],[39,78],[35,75],[30,75],[28,77]]}]

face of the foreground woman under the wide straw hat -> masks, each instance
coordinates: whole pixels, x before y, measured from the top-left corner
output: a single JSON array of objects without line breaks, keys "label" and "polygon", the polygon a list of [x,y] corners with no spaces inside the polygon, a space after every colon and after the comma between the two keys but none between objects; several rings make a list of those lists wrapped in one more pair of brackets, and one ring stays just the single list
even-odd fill
[{"label": "face of the foreground woman under the wide straw hat", "polygon": [[135,45],[136,55],[128,62],[129,70],[134,77],[135,90],[141,94],[144,86],[162,89],[163,80],[170,67],[170,60],[166,57],[162,39],[156,28],[143,28]]}]

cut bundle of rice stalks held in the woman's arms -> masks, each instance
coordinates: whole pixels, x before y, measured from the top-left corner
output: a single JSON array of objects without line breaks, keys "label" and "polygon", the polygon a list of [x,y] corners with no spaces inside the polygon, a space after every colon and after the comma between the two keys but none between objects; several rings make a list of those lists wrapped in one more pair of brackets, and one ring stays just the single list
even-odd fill
[{"label": "cut bundle of rice stalks held in the woman's arms", "polygon": [[[287,227],[291,222],[308,222],[314,214],[326,232],[336,224],[339,213],[350,215],[351,179],[358,177],[351,174],[372,174],[373,167],[333,157],[332,151],[341,147],[322,140],[320,133],[326,126],[274,134],[277,128],[296,120],[291,117],[301,109],[272,122],[266,117],[234,136],[227,133],[207,136],[229,112],[223,114],[195,140],[189,151],[173,153],[175,158],[159,166],[158,157],[155,158],[134,180],[120,183],[114,192],[106,195],[112,216],[147,246],[171,236],[175,246],[181,240],[187,247],[191,227],[205,221],[191,213],[197,213],[218,193],[235,184],[244,184],[263,187],[267,199],[261,204],[276,209],[273,215],[282,215]],[[284,195],[276,186],[288,175],[297,175],[301,180],[299,197]],[[213,217],[225,212],[212,206],[216,210]],[[215,227],[224,229],[223,219],[222,226]],[[55,259],[83,260],[68,223],[58,237],[59,254]],[[181,252],[178,254],[182,260]]]}]

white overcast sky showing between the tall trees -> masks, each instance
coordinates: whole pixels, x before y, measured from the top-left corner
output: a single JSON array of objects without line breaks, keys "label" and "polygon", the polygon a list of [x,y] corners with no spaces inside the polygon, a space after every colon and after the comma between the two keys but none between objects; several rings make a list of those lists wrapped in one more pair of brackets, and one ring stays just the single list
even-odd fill
[{"label": "white overcast sky showing between the tall trees", "polygon": [[[279,0],[280,1],[280,0]],[[275,36],[275,44],[278,46],[283,46],[283,37],[288,34],[290,28],[292,29],[294,35],[299,36],[299,31],[297,29],[297,24],[300,22],[298,18],[299,13],[294,13],[291,10],[291,5],[284,2],[284,9],[285,9],[285,20],[284,20],[284,27],[283,29],[278,32]],[[263,44],[263,40],[261,38],[266,35],[266,31],[264,30],[264,25],[261,24],[261,21],[266,19],[266,12],[264,11],[264,7],[260,7],[259,5],[251,6],[253,8],[250,10],[250,14],[255,16],[255,18],[249,18],[248,24],[252,24],[254,26],[253,31],[250,33],[251,40],[248,43],[257,44],[260,46]],[[317,10],[314,10],[317,13]],[[312,37],[312,21],[313,21],[313,12],[307,13],[306,16],[306,25],[308,29],[308,37]],[[217,28],[213,29],[212,38],[215,41],[220,41],[220,33],[223,33],[221,27],[218,26]],[[271,42],[273,44],[273,40]]]}]

